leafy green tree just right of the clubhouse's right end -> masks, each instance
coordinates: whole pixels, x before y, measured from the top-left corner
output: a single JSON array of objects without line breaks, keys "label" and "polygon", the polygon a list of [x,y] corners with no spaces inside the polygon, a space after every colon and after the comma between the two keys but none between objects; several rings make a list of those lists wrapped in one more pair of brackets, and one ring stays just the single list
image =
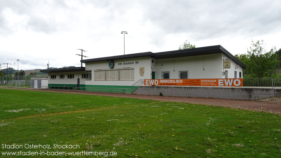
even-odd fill
[{"label": "leafy green tree just right of the clubhouse's right end", "polygon": [[257,42],[252,40],[250,48],[247,48],[247,54],[235,56],[247,66],[246,69],[243,69],[244,75],[249,75],[253,78],[264,78],[272,77],[278,67],[275,52],[275,47],[266,52],[263,40],[258,40]]}]

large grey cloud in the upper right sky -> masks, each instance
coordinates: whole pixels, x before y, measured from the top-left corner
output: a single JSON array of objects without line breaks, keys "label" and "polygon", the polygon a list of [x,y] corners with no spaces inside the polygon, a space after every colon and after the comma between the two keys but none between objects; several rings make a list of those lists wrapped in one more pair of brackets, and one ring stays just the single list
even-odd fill
[{"label": "large grey cloud in the upper right sky", "polygon": [[146,8],[146,19],[167,33],[192,33],[195,39],[216,38],[233,32],[268,33],[276,31],[274,25],[281,23],[280,4],[268,1],[153,2],[140,3]]}]

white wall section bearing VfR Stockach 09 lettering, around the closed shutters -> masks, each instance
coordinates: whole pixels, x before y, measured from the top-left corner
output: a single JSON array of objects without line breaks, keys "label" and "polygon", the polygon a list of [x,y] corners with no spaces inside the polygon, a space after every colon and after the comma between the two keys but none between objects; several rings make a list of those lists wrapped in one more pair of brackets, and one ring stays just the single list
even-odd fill
[{"label": "white wall section bearing VfR Stockach 09 lettering, around the closed shutters", "polygon": [[[134,64],[125,64],[124,63],[134,63]],[[114,68],[113,69],[123,69],[123,68],[134,68],[134,80],[116,80],[116,81],[95,81],[94,71],[95,70],[111,70],[108,66],[109,61],[101,61],[94,63],[86,63],[85,70],[92,70],[92,80],[85,81],[86,85],[126,85],[131,86],[135,84],[140,79],[151,79],[151,58],[143,57],[143,58],[132,58],[132,59],[120,59],[114,60]],[[140,76],[140,68],[144,68],[144,75]]]}]

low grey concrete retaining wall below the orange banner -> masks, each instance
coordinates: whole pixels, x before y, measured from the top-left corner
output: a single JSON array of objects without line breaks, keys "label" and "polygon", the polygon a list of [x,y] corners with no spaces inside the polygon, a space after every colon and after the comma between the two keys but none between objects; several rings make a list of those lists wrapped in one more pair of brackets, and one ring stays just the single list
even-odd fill
[{"label": "low grey concrete retaining wall below the orange banner", "polygon": [[281,96],[281,89],[269,88],[228,88],[228,87],[162,87],[143,86],[136,89],[133,94],[178,96],[178,97],[200,97],[256,100]]}]

